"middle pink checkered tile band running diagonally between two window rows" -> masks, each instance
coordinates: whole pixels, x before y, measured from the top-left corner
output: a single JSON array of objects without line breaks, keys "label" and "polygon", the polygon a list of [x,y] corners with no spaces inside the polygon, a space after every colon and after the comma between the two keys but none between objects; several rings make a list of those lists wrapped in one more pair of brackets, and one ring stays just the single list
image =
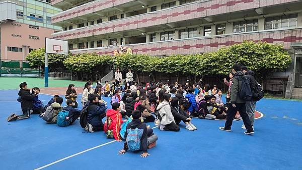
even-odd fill
[{"label": "middle pink checkered tile band running diagonally between two window rows", "polygon": [[[124,0],[127,1],[127,0]],[[230,13],[240,10],[254,9],[257,7],[276,5],[277,3],[288,3],[297,0],[213,0],[197,4],[180,6],[158,13],[146,13],[140,16],[125,18],[112,22],[106,22],[77,30],[64,31],[53,34],[53,38],[70,40],[92,35],[107,34],[124,30],[150,27],[154,25],[168,24],[171,22],[185,21],[205,16]]]}]

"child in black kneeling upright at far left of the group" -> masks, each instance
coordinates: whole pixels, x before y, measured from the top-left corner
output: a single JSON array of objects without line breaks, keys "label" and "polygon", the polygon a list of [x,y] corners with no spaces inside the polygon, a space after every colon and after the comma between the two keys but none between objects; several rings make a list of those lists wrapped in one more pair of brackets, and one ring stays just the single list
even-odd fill
[{"label": "child in black kneeling upright at far left of the group", "polygon": [[18,95],[21,96],[21,109],[23,115],[19,115],[18,119],[27,119],[30,117],[30,111],[33,108],[33,99],[38,94],[36,93],[36,89],[34,90],[34,93],[30,94],[30,89],[27,89],[26,82],[21,83],[19,87],[20,91]]}]

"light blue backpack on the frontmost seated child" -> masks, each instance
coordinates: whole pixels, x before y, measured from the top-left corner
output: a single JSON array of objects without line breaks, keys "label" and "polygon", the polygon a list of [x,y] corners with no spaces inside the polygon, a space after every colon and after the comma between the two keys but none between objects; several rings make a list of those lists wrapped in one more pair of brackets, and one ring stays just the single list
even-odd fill
[{"label": "light blue backpack on the frontmost seated child", "polygon": [[126,138],[126,142],[128,144],[128,148],[130,151],[136,151],[139,150],[140,148],[140,139],[138,136],[138,128],[136,127],[135,129],[129,129],[128,130],[128,135]]}]

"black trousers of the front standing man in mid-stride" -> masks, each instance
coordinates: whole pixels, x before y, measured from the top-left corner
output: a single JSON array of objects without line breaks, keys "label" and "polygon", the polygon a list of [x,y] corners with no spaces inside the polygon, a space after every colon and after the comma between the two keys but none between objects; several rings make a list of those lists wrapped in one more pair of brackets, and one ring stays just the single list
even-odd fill
[{"label": "black trousers of the front standing man in mid-stride", "polygon": [[245,103],[237,103],[236,107],[232,105],[229,107],[228,112],[226,113],[226,122],[224,128],[226,130],[231,130],[233,119],[236,116],[236,113],[239,111],[240,116],[242,117],[243,123],[248,132],[254,131],[249,116],[247,114],[247,108]]}]

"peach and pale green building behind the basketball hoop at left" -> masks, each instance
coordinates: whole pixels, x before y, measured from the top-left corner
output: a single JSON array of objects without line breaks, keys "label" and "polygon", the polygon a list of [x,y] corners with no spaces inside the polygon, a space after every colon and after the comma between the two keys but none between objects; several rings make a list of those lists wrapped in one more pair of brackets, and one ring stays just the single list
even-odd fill
[{"label": "peach and pale green building behind the basketball hoop at left", "polygon": [[45,37],[61,31],[60,27],[51,25],[50,17],[60,10],[51,7],[49,0],[0,1],[0,7],[3,61],[25,60],[30,51],[45,47]]}]

